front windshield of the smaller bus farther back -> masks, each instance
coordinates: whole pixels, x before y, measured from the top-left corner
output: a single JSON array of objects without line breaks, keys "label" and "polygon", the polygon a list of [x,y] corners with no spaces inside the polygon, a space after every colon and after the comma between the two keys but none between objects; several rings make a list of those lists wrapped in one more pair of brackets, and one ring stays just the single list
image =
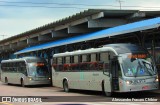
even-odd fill
[{"label": "front windshield of the smaller bus farther back", "polygon": [[29,76],[49,76],[49,71],[44,63],[28,63]]}]

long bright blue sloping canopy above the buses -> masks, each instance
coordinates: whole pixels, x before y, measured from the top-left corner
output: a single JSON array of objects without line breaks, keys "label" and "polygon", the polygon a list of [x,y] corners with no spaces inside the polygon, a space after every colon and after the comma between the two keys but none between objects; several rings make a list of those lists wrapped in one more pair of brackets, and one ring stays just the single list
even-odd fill
[{"label": "long bright blue sloping canopy above the buses", "polygon": [[89,33],[89,34],[83,34],[80,36],[75,36],[75,37],[65,38],[65,39],[52,41],[52,42],[48,42],[48,43],[44,43],[40,45],[35,45],[32,47],[28,47],[23,50],[20,50],[14,54],[17,55],[17,54],[67,45],[67,44],[73,44],[73,43],[78,43],[78,42],[83,42],[83,41],[95,40],[99,38],[105,38],[105,37],[117,36],[117,35],[137,32],[137,31],[154,29],[154,28],[158,28],[159,26],[160,26],[160,17],[157,17],[153,19],[148,19],[148,20],[129,23],[129,24],[121,25],[121,26],[116,26],[113,28],[107,28],[107,29]]}]

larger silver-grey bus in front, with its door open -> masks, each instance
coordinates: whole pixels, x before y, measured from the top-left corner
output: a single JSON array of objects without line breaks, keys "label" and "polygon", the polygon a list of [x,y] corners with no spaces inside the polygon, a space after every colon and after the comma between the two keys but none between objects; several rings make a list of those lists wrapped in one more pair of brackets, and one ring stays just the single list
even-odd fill
[{"label": "larger silver-grey bus in front, with its door open", "polygon": [[158,89],[158,76],[150,54],[134,44],[110,44],[53,55],[52,82],[69,89],[133,92]]}]

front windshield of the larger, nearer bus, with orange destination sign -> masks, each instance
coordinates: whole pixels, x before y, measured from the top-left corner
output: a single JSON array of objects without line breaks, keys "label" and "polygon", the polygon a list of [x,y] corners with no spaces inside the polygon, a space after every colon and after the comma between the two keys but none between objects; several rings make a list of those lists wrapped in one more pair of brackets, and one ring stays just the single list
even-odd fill
[{"label": "front windshield of the larger, nearer bus, with orange destination sign", "polygon": [[156,74],[149,54],[121,54],[120,57],[125,76],[140,77]]}]

